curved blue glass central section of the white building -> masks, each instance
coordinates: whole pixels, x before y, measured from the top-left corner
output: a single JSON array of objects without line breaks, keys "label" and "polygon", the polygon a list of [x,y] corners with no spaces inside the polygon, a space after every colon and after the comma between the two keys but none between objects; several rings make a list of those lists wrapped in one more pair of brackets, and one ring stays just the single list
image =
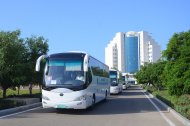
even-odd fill
[{"label": "curved blue glass central section of the white building", "polygon": [[135,73],[139,68],[139,42],[138,36],[126,36],[124,40],[125,71]]}]

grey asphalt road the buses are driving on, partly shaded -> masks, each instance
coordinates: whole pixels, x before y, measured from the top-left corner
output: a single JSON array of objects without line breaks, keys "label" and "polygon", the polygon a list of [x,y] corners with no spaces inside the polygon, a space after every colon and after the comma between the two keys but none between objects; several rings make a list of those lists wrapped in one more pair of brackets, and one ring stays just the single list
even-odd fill
[{"label": "grey asphalt road the buses are driving on, partly shaded", "polygon": [[42,109],[0,119],[0,126],[183,126],[138,86],[111,95],[93,110]]}]

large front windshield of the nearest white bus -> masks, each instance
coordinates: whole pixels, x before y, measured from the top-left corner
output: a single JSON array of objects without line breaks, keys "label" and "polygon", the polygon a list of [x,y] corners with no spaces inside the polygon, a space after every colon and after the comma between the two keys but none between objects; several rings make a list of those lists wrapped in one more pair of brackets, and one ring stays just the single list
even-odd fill
[{"label": "large front windshield of the nearest white bus", "polygon": [[83,57],[50,57],[44,70],[44,85],[65,88],[85,84]]}]

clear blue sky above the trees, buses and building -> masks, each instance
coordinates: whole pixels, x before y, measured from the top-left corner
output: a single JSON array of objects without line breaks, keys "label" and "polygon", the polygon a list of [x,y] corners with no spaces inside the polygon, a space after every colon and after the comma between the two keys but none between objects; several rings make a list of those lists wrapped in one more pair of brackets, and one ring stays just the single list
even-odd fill
[{"label": "clear blue sky above the trees, buses and building", "polygon": [[141,31],[166,49],[190,29],[190,0],[0,0],[0,30],[44,36],[49,54],[81,50],[104,62],[117,32]]}]

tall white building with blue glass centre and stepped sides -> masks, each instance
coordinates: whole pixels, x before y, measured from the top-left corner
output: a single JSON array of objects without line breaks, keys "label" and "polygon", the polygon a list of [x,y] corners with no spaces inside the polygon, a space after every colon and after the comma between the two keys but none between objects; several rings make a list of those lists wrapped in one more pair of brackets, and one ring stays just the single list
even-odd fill
[{"label": "tall white building with blue glass centre and stepped sides", "polygon": [[135,73],[145,62],[156,62],[161,48],[148,32],[118,32],[105,48],[105,63],[123,73]]}]

